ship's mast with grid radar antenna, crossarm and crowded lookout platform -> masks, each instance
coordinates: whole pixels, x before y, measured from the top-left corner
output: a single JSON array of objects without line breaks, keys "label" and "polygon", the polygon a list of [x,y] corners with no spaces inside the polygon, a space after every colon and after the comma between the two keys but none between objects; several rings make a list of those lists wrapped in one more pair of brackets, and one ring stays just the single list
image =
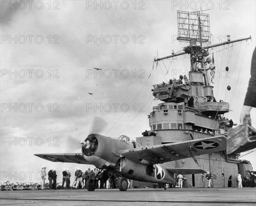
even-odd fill
[{"label": "ship's mast with grid radar antenna, crossarm and crowded lookout platform", "polygon": [[187,103],[191,96],[196,98],[195,102],[198,105],[206,101],[210,102],[214,99],[214,95],[213,86],[210,85],[207,71],[210,70],[212,81],[215,73],[215,65],[209,57],[209,48],[232,44],[238,41],[245,41],[251,39],[251,37],[233,41],[230,41],[230,38],[228,38],[228,40],[223,43],[211,45],[209,14],[177,11],[177,20],[177,40],[189,43],[189,45],[184,47],[181,52],[176,54],[172,53],[172,55],[162,58],[157,57],[154,61],[189,54],[189,78],[186,77],[185,81],[184,76],[185,84],[183,84],[183,76],[181,75],[182,77],[180,77],[179,80],[176,80],[175,78],[170,79],[167,85],[153,85],[155,88],[154,91],[152,90],[153,95],[155,96],[155,99],[159,99],[164,102]]}]

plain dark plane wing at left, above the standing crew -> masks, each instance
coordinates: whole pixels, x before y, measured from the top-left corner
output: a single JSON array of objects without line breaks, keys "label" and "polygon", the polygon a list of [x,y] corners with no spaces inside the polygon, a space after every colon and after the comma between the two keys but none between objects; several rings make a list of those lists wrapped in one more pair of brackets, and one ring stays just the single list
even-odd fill
[{"label": "plain dark plane wing at left, above the standing crew", "polygon": [[67,154],[34,154],[37,157],[41,157],[45,160],[49,160],[52,162],[72,162],[77,164],[87,164],[91,165],[91,163],[87,162],[81,153],[67,153]]}]

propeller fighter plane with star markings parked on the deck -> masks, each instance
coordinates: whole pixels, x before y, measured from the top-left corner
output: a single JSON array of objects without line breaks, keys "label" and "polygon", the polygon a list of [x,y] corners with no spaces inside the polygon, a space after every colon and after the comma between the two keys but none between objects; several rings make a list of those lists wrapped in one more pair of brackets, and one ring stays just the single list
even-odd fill
[{"label": "propeller fighter plane with star markings parked on the deck", "polygon": [[[81,145],[81,153],[35,155],[52,162],[95,165],[96,168],[99,168],[99,173],[105,170],[119,178],[119,190],[126,191],[127,179],[174,184],[174,173],[206,173],[202,169],[169,168],[165,167],[163,163],[224,151],[227,148],[227,139],[225,136],[218,135],[204,139],[141,147],[136,142],[130,141],[125,135],[115,139],[93,133],[87,136]],[[98,180],[99,173],[95,178],[90,178],[87,181],[87,190],[95,190],[95,181]]]}]

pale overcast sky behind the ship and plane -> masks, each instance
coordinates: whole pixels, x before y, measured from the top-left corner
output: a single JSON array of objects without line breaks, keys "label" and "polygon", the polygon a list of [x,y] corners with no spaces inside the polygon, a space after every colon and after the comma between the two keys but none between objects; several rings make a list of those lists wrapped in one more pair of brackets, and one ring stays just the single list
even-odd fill
[{"label": "pale overcast sky behind the ship and plane", "polygon": [[[154,70],[152,65],[157,52],[163,57],[186,46],[176,40],[177,10],[200,10],[200,1],[99,1],[98,6],[95,1],[47,2],[1,1],[2,183],[37,182],[36,172],[43,165],[47,171],[85,170],[88,165],[49,162],[33,154],[75,152],[66,144],[69,136],[80,152],[79,142],[92,131],[94,116],[108,123],[103,135],[140,136],[149,129],[147,115],[160,103],[153,101],[152,85],[189,70],[187,55],[171,65],[169,60],[160,62]],[[204,12],[209,14],[213,43],[226,41],[225,35],[231,40],[252,37],[211,50],[214,94],[230,102],[232,111],[226,116],[235,123],[256,45],[255,8],[255,1],[201,3],[201,10],[209,9]],[[251,117],[255,127],[255,109]],[[255,156],[253,152],[243,158],[254,170]]]}]

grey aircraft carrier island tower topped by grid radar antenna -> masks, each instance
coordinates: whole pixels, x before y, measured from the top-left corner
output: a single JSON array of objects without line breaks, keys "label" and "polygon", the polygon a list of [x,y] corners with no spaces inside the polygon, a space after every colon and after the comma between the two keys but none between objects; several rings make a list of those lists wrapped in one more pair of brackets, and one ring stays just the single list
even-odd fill
[{"label": "grey aircraft carrier island tower topped by grid radar antenna", "polygon": [[[160,100],[162,103],[154,106],[153,111],[148,115],[149,126],[156,136],[137,137],[136,139],[143,146],[177,143],[192,139],[203,140],[218,134],[226,136],[227,130],[233,125],[224,117],[224,114],[230,111],[229,103],[222,100],[216,101],[213,93],[214,87],[210,83],[212,80],[209,73],[215,72],[215,65],[214,57],[209,56],[212,55],[209,53],[209,48],[250,38],[234,41],[228,39],[221,44],[203,46],[203,44],[209,44],[209,15],[200,12],[178,11],[177,16],[179,26],[177,40],[186,41],[189,46],[183,48],[182,52],[176,54],[173,52],[170,56],[155,58],[154,61],[189,54],[190,68],[184,68],[189,70],[188,77],[180,75],[180,79],[173,78],[168,82],[153,85],[153,96],[155,100]],[[192,29],[191,25],[196,28]],[[226,67],[226,70],[228,69]],[[197,148],[210,149],[215,146],[206,141]],[[226,151],[221,151],[164,164],[173,168],[203,169],[212,173],[214,187],[237,187],[237,175],[240,173],[243,177],[247,171],[252,170],[249,162],[238,160],[239,156],[240,154],[235,154],[229,157]],[[177,177],[178,174],[175,175]],[[207,180],[205,174],[183,174],[183,176],[185,187],[207,187],[208,183],[204,183],[204,180]]]}]

